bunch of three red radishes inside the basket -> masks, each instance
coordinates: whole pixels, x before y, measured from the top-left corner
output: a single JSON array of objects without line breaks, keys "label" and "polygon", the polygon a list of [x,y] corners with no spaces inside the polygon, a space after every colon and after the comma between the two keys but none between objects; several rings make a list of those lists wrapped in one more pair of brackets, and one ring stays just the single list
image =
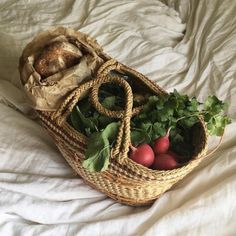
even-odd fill
[{"label": "bunch of three red radishes inside the basket", "polygon": [[131,145],[130,158],[154,170],[172,170],[179,167],[178,155],[169,150],[169,133],[170,129],[165,136],[156,139],[153,148],[149,144],[141,144],[138,147]]}]

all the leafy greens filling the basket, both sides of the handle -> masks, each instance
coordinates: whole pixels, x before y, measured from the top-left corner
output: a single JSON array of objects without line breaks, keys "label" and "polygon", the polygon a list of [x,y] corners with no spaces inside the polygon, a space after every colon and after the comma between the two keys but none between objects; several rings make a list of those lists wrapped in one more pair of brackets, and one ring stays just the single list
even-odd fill
[{"label": "all the leafy greens filling the basket, both sides of the handle", "polygon": [[[125,77],[130,84],[129,76]],[[133,88],[132,88],[133,89]],[[224,115],[227,104],[216,96],[209,96],[201,104],[196,97],[189,98],[176,90],[161,96],[143,95],[133,91],[134,103],[144,104],[142,111],[131,119],[131,142],[152,144],[155,139],[170,131],[171,149],[183,157],[183,162],[193,154],[193,129],[204,118],[211,135],[222,135],[231,120]],[[125,94],[115,83],[103,84],[99,90],[99,101],[109,110],[123,110]],[[90,99],[79,101],[72,111],[69,123],[89,137],[83,166],[90,171],[104,171],[108,168],[110,150],[116,141],[118,119],[99,114]]]}]

